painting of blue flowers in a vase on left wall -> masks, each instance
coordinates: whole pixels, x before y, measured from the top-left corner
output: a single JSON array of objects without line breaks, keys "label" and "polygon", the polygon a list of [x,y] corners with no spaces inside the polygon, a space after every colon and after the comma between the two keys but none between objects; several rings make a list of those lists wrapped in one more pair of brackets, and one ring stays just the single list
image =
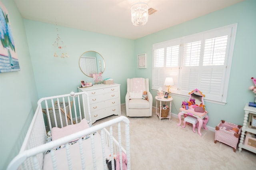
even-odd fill
[{"label": "painting of blue flowers in a vase on left wall", "polygon": [[8,11],[0,2],[0,73],[20,71]]}]

